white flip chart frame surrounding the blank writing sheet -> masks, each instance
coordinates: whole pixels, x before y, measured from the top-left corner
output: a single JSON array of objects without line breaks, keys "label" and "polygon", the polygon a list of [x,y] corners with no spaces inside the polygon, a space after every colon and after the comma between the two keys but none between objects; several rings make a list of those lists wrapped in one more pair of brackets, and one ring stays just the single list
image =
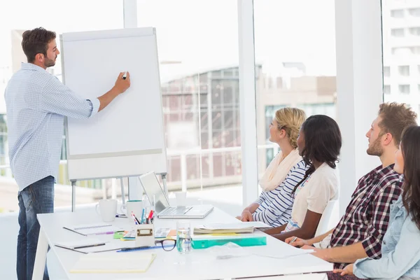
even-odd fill
[{"label": "white flip chart frame surrounding the blank writing sheet", "polygon": [[[139,36],[154,36],[155,41],[155,57],[156,65],[158,67],[158,83],[159,83],[159,97],[160,97],[160,116],[162,127],[162,143],[163,147],[153,150],[141,151],[124,151],[118,153],[100,153],[100,154],[86,154],[86,155],[71,155],[70,154],[70,140],[69,137],[69,123],[67,118],[64,118],[64,131],[66,135],[66,157],[67,157],[67,172],[69,181],[82,181],[94,179],[110,179],[128,176],[140,176],[147,172],[155,171],[156,174],[167,174],[167,151],[165,145],[165,127],[164,116],[162,109],[162,92],[160,89],[160,69],[158,58],[158,43],[156,38],[156,30],[154,27],[142,28],[125,28],[102,31],[83,31],[60,34],[60,52],[62,61],[62,82],[66,84],[65,80],[65,66],[64,66],[64,43],[70,41],[85,41],[104,38],[124,38],[124,37],[139,37]],[[100,113],[100,112],[99,112]],[[90,167],[95,165],[94,176],[90,176]],[[109,166],[115,168],[110,173]],[[118,169],[118,167],[120,167]],[[123,167],[125,170],[123,170]],[[128,167],[128,168],[127,168]],[[139,171],[137,171],[139,170]]]}]

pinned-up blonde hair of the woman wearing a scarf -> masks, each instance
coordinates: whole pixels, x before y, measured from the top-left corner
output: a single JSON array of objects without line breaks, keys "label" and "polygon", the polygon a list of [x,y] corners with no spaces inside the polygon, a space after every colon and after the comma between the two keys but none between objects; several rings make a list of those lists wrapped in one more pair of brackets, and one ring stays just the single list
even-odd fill
[{"label": "pinned-up blonde hair of the woman wearing a scarf", "polygon": [[285,130],[290,145],[293,148],[297,148],[297,135],[302,123],[306,120],[304,111],[297,108],[282,108],[276,111],[274,120],[277,123],[277,130]]}]

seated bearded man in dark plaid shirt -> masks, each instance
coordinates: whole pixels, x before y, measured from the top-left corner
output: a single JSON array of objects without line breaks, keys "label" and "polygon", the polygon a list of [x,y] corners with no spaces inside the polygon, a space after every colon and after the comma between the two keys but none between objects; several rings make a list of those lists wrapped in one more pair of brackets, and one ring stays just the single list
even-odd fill
[{"label": "seated bearded man in dark plaid shirt", "polygon": [[[402,131],[409,125],[416,125],[416,113],[405,104],[379,106],[378,117],[366,137],[369,139],[367,154],[378,156],[382,165],[358,181],[346,213],[335,228],[313,239],[297,239],[291,245],[311,246],[321,242],[314,255],[335,262],[335,267],[341,269],[360,258],[381,258],[389,208],[402,191],[402,180],[393,170],[395,151]],[[292,238],[286,239],[286,243]]]}]

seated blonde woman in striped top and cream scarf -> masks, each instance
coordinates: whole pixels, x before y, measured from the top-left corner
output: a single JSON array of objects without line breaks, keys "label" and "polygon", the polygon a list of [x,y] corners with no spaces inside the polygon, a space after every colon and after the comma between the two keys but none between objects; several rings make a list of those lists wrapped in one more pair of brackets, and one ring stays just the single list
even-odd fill
[{"label": "seated blonde woman in striped top and cream scarf", "polygon": [[275,227],[283,225],[290,217],[293,206],[291,193],[306,171],[296,144],[305,118],[304,111],[300,109],[276,111],[269,125],[269,141],[278,144],[281,152],[260,179],[262,193],[257,201],[242,211],[241,221],[261,221]]}]

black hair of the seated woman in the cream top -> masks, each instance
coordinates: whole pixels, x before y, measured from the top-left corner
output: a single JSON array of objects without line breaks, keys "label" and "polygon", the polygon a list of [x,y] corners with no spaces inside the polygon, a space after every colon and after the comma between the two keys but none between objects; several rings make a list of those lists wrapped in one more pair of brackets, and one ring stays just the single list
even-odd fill
[{"label": "black hair of the seated woman in the cream top", "polygon": [[301,128],[304,134],[304,149],[302,158],[309,167],[302,181],[297,183],[293,193],[297,190],[309,175],[315,172],[314,160],[326,162],[331,168],[335,168],[338,162],[339,150],[342,146],[342,136],[335,120],[325,115],[314,115],[304,121]]}]

